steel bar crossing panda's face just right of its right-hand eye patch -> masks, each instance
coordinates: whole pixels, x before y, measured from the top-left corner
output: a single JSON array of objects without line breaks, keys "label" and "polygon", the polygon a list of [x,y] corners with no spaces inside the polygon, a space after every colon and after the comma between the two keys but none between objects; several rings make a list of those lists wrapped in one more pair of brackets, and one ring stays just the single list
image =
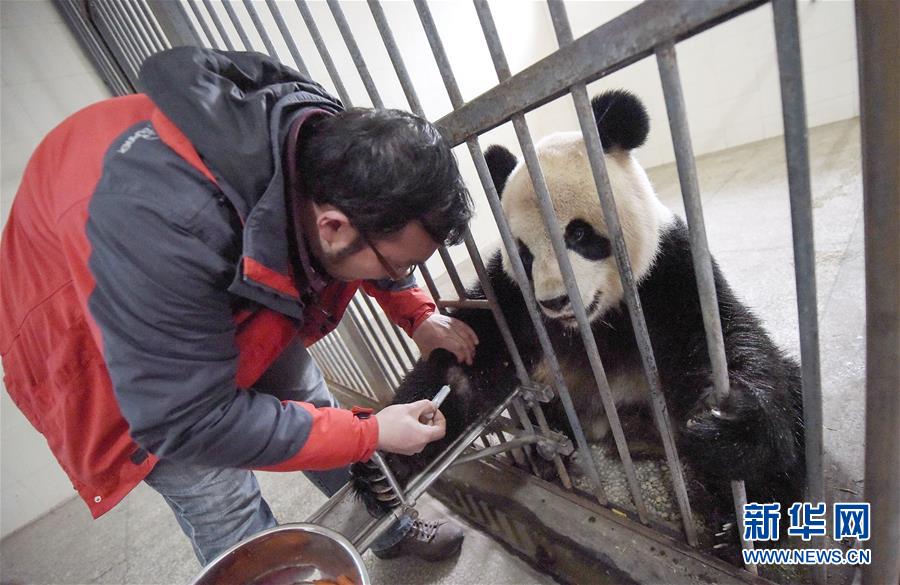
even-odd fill
[{"label": "steel bar crossing panda's face just right of its right-hand eye patch", "polygon": [[[553,27],[556,31],[557,42],[560,48],[573,41],[572,30],[569,26],[569,18],[564,4],[560,0],[548,2]],[[614,257],[622,280],[625,292],[625,304],[631,317],[634,335],[641,354],[641,362],[644,375],[650,389],[650,403],[653,409],[659,436],[662,438],[663,449],[666,454],[666,462],[672,475],[672,485],[678,508],[681,513],[681,521],[684,534],[691,546],[697,545],[697,528],[694,522],[691,504],[687,494],[687,485],[684,480],[684,468],[678,457],[678,449],[675,445],[675,436],[672,433],[669,411],[666,399],[661,389],[659,370],[656,367],[656,358],[653,355],[653,347],[650,343],[650,333],[647,330],[647,322],[641,307],[641,299],[638,295],[637,285],[628,258],[628,250],[625,246],[625,236],[619,222],[619,214],[613,198],[612,186],[609,183],[609,175],[606,171],[606,161],[603,154],[603,145],[597,130],[597,121],[591,108],[587,88],[584,84],[578,84],[572,88],[572,99],[575,102],[575,110],[584,136],[585,148],[591,165],[594,185],[597,189],[600,207],[603,210],[603,218],[606,222],[609,235],[613,240]]]}]

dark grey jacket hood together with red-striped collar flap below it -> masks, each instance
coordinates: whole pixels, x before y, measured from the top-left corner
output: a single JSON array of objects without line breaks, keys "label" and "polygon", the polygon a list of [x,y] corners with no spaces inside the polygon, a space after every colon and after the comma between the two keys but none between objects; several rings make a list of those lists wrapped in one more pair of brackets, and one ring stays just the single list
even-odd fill
[{"label": "dark grey jacket hood together with red-striped collar flap below it", "polygon": [[282,146],[310,110],[341,102],[319,84],[261,53],[177,47],[145,61],[140,81],[191,142],[244,224],[242,257],[229,290],[300,317],[291,282]]}]

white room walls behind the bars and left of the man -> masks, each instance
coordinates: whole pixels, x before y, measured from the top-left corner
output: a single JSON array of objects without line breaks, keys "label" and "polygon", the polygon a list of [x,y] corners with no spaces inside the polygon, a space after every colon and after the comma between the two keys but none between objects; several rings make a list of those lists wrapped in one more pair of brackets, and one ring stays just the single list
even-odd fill
[{"label": "white room walls behind the bars and left of the man", "polygon": [[[689,0],[688,0],[689,1]],[[198,3],[199,4],[199,3]],[[575,37],[635,6],[637,2],[569,2]],[[230,30],[227,14],[216,2],[219,17]],[[333,90],[325,67],[293,2],[279,2],[283,17],[297,31],[295,40],[313,78]],[[411,2],[383,3],[400,51],[426,115],[437,119],[451,111],[440,74],[431,56]],[[432,1],[431,11],[449,53],[463,97],[472,99],[497,82],[475,10],[466,1]],[[382,98],[389,107],[407,103],[393,67],[364,2],[345,2],[344,12],[367,60]],[[235,9],[244,27],[253,26],[243,6]],[[311,3],[332,58],[354,105],[371,105],[334,20],[324,2]],[[513,73],[556,48],[555,35],[543,2],[494,1],[491,9]],[[257,10],[275,31],[279,55],[292,63],[279,40],[266,5]],[[12,194],[31,150],[41,136],[76,109],[107,95],[88,62],[48,0],[0,0],[2,11],[2,203],[5,221]],[[856,45],[853,4],[849,0],[802,2],[799,8],[801,41],[810,126],[858,115]],[[237,36],[234,35],[236,39]],[[256,50],[263,45],[251,33]],[[241,48],[237,41],[238,48]],[[766,5],[678,45],[679,65],[696,154],[729,148],[781,133],[772,11]],[[653,59],[645,59],[591,86],[624,87],[640,95],[650,112],[652,130],[639,152],[645,166],[670,162],[674,155],[667,129],[659,74]],[[558,130],[577,130],[571,99],[561,98],[527,116],[535,139]],[[484,146],[502,143],[518,151],[509,124],[482,138]],[[468,151],[458,149],[462,171],[477,204],[473,233],[488,250],[497,240],[496,228]],[[451,250],[454,258],[465,249]],[[440,260],[429,262],[436,275]],[[0,276],[2,277],[2,276]],[[43,439],[9,401],[2,398],[2,515],[5,535],[46,512],[73,492]]]}]

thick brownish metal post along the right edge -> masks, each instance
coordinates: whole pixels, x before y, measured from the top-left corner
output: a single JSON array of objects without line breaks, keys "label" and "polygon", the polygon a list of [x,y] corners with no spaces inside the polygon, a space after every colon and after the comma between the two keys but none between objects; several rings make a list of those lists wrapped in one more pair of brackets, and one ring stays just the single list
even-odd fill
[{"label": "thick brownish metal post along the right edge", "polygon": [[[856,2],[866,265],[866,471],[872,563],[900,583],[900,11]],[[889,161],[894,161],[890,163]]]}]

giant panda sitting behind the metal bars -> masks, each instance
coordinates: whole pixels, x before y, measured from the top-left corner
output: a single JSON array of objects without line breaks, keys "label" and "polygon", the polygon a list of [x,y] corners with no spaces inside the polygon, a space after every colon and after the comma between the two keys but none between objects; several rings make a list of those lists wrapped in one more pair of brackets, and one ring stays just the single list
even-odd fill
[{"label": "giant panda sitting behind the metal bars", "polygon": [[[688,228],[660,203],[632,153],[649,132],[646,110],[621,90],[596,96],[591,105],[678,452],[693,478],[691,495],[702,503],[692,502],[705,507],[718,526],[729,524],[734,519],[729,480],[739,479],[746,482],[748,501],[782,502],[786,510],[802,499],[805,477],[798,365],[772,342],[713,263],[731,385],[727,399],[715,402]],[[582,135],[552,134],[536,149],[616,405],[634,407],[649,419],[649,410],[641,408],[649,400],[641,358]],[[492,146],[485,157],[586,437],[608,440],[609,424],[528,171],[503,147]],[[487,274],[529,374],[552,383],[505,250],[493,255]],[[478,283],[469,296],[485,298]],[[478,350],[471,366],[435,351],[400,384],[395,403],[431,398],[446,383],[453,388],[441,407],[446,437],[419,455],[387,457],[401,482],[518,384],[492,313],[451,314],[475,330]],[[558,405],[549,405],[548,419],[571,433]],[[396,504],[373,467],[357,464],[353,475],[371,512]],[[736,541],[736,531],[732,536]]]}]

